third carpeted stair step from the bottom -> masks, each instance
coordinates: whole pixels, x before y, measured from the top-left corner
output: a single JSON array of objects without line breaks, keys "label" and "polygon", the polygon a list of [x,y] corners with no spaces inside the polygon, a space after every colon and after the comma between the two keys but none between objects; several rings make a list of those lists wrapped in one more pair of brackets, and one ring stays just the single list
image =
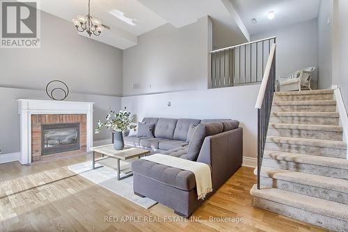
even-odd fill
[{"label": "third carpeted stair step from the bottom", "polygon": [[262,167],[348,180],[348,160],[340,158],[264,150]]}]

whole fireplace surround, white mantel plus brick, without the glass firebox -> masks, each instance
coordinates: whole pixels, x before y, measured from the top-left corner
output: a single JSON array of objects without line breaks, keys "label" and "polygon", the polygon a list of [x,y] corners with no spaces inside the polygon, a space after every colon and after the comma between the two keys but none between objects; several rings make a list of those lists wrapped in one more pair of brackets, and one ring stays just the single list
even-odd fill
[{"label": "whole fireplace surround, white mantel plus brick, without the glass firebox", "polygon": [[[32,99],[18,99],[17,102],[21,148],[18,161],[21,164],[30,164],[35,160],[42,159],[42,124],[79,123],[80,150],[54,155],[81,153],[81,150],[89,152],[90,148],[93,147],[93,102]],[[45,155],[45,157],[49,156]]]}]

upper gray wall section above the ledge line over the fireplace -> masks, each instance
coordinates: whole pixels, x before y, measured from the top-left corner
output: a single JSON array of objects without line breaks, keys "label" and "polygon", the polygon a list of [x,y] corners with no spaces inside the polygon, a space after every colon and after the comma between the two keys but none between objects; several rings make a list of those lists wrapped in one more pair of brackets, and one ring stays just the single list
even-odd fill
[{"label": "upper gray wall section above the ledge line over the fireplace", "polygon": [[60,79],[73,93],[122,95],[122,50],[77,34],[41,11],[40,49],[1,49],[0,86],[45,89]]}]

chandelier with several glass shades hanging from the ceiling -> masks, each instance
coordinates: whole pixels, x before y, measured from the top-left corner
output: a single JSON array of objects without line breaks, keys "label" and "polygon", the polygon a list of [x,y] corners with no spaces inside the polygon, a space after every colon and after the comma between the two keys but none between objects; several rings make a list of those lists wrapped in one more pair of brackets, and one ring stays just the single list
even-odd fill
[{"label": "chandelier with several glass shades hanging from the ceiling", "polygon": [[77,31],[86,31],[89,36],[92,36],[92,34],[99,36],[104,29],[102,21],[97,20],[90,15],[90,0],[88,0],[88,15],[77,15],[76,18],[72,19],[72,22],[74,22]]}]

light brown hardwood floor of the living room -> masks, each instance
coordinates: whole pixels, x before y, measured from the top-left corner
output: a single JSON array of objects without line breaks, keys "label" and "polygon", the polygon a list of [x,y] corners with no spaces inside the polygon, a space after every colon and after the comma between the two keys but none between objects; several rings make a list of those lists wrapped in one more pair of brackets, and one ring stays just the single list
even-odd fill
[{"label": "light brown hardwood floor of the living room", "polygon": [[[31,166],[0,164],[0,231],[326,231],[254,208],[252,168],[240,168],[182,222],[166,206],[145,210],[68,170],[86,160],[89,155]],[[240,217],[244,222],[220,222]]]}]

